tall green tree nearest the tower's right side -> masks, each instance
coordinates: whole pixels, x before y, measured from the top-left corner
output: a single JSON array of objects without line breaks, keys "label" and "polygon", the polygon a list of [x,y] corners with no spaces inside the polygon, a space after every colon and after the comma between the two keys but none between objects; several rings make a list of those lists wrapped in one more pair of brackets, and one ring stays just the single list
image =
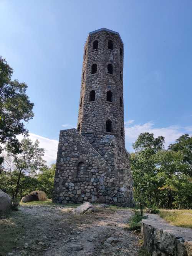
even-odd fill
[{"label": "tall green tree nearest the tower's right side", "polygon": [[141,133],[133,144],[131,170],[134,180],[134,198],[148,206],[159,204],[156,153],[162,150],[164,137],[154,138],[152,133]]}]

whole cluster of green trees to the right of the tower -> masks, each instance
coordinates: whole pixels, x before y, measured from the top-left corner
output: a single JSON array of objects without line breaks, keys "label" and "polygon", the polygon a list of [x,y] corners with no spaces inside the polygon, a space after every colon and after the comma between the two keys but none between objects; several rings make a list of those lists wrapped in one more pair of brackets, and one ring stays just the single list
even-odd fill
[{"label": "whole cluster of green trees to the right of the tower", "polygon": [[182,135],[168,150],[164,138],[141,133],[131,154],[134,198],[150,209],[192,207],[192,138]]}]

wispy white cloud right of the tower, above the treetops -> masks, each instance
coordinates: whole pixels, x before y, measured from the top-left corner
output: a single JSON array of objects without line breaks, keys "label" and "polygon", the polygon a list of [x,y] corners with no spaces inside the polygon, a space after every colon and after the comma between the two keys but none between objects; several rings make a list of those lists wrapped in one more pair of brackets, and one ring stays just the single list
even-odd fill
[{"label": "wispy white cloud right of the tower, above the treetops", "polygon": [[[131,121],[131,122],[130,122]],[[167,126],[161,128],[155,128],[154,122],[149,121],[144,124],[134,124],[132,125],[132,120],[125,122],[125,140],[128,150],[132,151],[132,143],[137,140],[140,133],[149,132],[153,133],[154,137],[164,136],[165,137],[165,147],[170,143],[173,143],[177,138],[179,138],[184,133],[190,133],[192,127],[180,127],[180,126]]]}]

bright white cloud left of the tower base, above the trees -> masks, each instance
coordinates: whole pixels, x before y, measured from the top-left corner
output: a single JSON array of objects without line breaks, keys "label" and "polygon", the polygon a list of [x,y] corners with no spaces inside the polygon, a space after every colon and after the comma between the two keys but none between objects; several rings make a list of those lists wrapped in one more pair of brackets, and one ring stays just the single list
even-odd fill
[{"label": "bright white cloud left of the tower base, above the trees", "polygon": [[[19,140],[22,140],[22,138],[23,138],[22,135],[18,136]],[[58,147],[57,140],[51,140],[49,138],[36,135],[34,133],[29,133],[29,138],[33,142],[35,142],[35,140],[38,140],[40,148],[45,148],[45,155],[43,156],[43,159],[47,161],[47,165],[50,165],[51,163],[56,162],[57,147]]]}]

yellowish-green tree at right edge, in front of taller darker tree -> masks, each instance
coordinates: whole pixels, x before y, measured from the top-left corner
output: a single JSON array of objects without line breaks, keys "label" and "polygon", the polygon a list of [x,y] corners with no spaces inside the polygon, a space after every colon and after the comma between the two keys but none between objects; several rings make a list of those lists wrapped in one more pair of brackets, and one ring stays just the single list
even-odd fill
[{"label": "yellowish-green tree at right edge, in front of taller darker tree", "polygon": [[[157,153],[157,180],[164,207],[172,209],[192,205],[192,182],[186,175],[188,165],[181,151],[164,150]],[[184,200],[185,198],[185,200]]]}]

